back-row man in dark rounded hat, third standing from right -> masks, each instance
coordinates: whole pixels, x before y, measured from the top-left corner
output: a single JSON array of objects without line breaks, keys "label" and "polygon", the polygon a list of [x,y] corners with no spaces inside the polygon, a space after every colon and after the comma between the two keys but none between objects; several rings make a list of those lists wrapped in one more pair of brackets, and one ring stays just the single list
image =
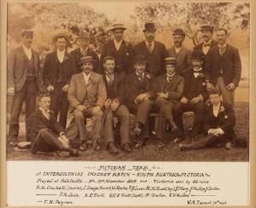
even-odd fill
[{"label": "back-row man in dark rounded hat, third standing from right", "polygon": [[174,46],[168,49],[169,56],[175,57],[177,60],[176,72],[181,76],[188,72],[191,66],[191,50],[183,46],[185,37],[183,29],[177,28],[172,33]]}]

